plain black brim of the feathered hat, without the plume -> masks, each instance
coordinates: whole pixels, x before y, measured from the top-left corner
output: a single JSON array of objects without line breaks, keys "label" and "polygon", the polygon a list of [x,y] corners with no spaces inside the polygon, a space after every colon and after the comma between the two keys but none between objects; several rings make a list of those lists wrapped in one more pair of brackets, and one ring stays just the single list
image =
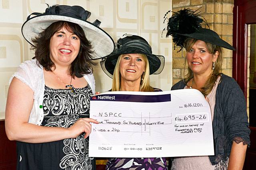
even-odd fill
[{"label": "plain black brim of the feathered hat, without the plume", "polygon": [[200,28],[200,29],[198,29],[198,31],[196,31],[194,33],[190,33],[190,34],[177,33],[177,34],[183,35],[185,37],[190,37],[193,39],[205,41],[208,43],[212,43],[214,45],[218,45],[218,46],[226,48],[226,49],[230,49],[230,50],[234,50],[234,51],[236,50],[234,47],[232,47],[232,45],[230,45],[226,41],[222,40],[220,37],[217,37],[218,34],[210,29]]}]

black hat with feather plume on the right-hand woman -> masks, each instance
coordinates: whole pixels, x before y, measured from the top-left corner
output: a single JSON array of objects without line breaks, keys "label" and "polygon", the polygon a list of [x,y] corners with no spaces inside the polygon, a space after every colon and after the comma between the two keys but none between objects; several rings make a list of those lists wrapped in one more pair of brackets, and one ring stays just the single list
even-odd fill
[{"label": "black hat with feather plume on the right-hand woman", "polygon": [[[164,18],[167,19],[167,14]],[[222,40],[219,35],[211,29],[202,28],[201,23],[206,23],[200,16],[199,12],[192,11],[189,8],[173,12],[174,14],[168,19],[166,37],[172,35],[174,49],[178,45],[184,47],[187,38],[198,39],[230,50],[236,50],[232,45]],[[202,17],[202,16],[201,16]],[[178,51],[179,52],[179,51]]]}]

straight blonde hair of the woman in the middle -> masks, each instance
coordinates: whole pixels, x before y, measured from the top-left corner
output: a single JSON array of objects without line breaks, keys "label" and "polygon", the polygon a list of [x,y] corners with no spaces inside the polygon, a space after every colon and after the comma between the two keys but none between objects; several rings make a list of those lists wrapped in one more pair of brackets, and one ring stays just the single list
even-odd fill
[{"label": "straight blonde hair of the woman in the middle", "polygon": [[[149,63],[148,63],[148,57],[144,54],[139,54],[142,59],[145,61],[146,66],[145,66],[145,72],[142,74],[142,79],[140,81],[140,91],[141,92],[154,92],[154,88],[150,86],[150,81],[149,81]],[[121,75],[119,71],[120,67],[120,60],[122,58],[123,54],[120,55],[116,61],[116,66],[114,69],[114,74],[113,74],[113,80],[112,80],[112,89],[111,91],[120,91],[121,88]]]}]

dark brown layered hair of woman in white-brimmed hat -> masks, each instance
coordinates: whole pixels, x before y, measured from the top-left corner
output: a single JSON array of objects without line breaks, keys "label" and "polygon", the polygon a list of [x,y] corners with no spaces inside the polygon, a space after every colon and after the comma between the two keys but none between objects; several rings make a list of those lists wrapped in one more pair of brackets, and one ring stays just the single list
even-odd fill
[{"label": "dark brown layered hair of woman in white-brimmed hat", "polygon": [[71,63],[69,73],[74,78],[81,78],[83,74],[92,73],[92,65],[96,65],[91,61],[92,45],[85,36],[84,30],[76,23],[68,21],[57,21],[44,29],[37,37],[32,39],[34,46],[31,47],[35,51],[35,57],[38,66],[42,65],[46,71],[52,71],[55,64],[50,59],[50,39],[60,29],[66,28],[68,31],[76,34],[80,39],[80,50],[76,59]]}]

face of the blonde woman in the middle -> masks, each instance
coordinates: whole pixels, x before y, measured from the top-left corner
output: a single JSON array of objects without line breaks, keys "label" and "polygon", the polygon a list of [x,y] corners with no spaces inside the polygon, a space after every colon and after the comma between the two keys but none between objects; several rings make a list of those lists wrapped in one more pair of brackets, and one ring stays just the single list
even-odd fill
[{"label": "face of the blonde woman in the middle", "polygon": [[140,83],[145,67],[146,62],[140,54],[122,55],[119,66],[121,81],[137,81]]}]

